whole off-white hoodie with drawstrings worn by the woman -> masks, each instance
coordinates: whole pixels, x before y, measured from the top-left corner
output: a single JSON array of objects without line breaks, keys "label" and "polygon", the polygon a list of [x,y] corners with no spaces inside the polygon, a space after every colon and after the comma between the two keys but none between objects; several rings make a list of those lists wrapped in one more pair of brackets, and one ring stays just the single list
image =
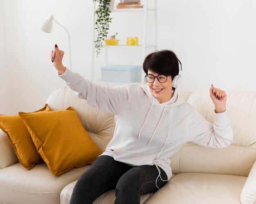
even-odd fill
[{"label": "whole off-white hoodie with drawstrings worn by the woman", "polygon": [[90,106],[116,115],[114,136],[101,154],[116,161],[131,166],[155,164],[166,172],[169,180],[172,177],[169,158],[184,143],[222,148],[233,141],[226,111],[218,114],[214,111],[212,124],[176,92],[169,101],[159,103],[147,85],[102,86],[67,68],[59,77]]}]

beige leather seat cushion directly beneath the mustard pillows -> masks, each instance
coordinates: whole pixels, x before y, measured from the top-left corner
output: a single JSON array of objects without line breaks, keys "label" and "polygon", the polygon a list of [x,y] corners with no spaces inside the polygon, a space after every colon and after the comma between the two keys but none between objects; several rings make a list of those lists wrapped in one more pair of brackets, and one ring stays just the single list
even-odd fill
[{"label": "beige leather seat cushion directly beneath the mustard pillows", "polygon": [[57,204],[61,190],[77,180],[90,165],[55,176],[45,163],[27,170],[20,163],[0,170],[0,201],[18,204]]}]

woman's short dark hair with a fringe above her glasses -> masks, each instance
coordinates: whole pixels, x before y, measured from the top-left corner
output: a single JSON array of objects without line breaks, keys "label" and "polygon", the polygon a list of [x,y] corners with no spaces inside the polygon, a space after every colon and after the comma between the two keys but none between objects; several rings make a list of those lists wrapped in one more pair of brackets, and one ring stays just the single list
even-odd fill
[{"label": "woman's short dark hair with a fringe above her glasses", "polygon": [[143,70],[146,75],[148,75],[148,70],[157,74],[171,75],[173,80],[179,74],[178,58],[171,50],[157,50],[146,56]]}]

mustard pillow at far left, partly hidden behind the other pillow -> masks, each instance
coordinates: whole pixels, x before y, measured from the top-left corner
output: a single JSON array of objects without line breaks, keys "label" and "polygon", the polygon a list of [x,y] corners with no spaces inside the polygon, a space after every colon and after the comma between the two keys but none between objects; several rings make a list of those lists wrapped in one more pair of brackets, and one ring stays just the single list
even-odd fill
[{"label": "mustard pillow at far left, partly hidden behind the other pillow", "polygon": [[[51,111],[50,107],[45,104],[40,110],[33,112]],[[27,113],[29,115],[31,113]],[[40,154],[37,153],[33,140],[27,130],[23,120],[18,115],[0,115],[0,128],[8,136],[9,142],[20,161],[20,164],[26,169],[34,167],[35,163],[43,163]]]}]

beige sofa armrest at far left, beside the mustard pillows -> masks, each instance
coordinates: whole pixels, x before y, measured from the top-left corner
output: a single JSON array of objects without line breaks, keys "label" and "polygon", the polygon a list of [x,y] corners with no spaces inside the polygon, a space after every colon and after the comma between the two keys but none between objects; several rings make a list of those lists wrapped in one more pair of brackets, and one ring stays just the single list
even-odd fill
[{"label": "beige sofa armrest at far left, beside the mustard pillows", "polygon": [[9,167],[19,162],[18,157],[11,144],[8,136],[0,129],[0,169]]}]

